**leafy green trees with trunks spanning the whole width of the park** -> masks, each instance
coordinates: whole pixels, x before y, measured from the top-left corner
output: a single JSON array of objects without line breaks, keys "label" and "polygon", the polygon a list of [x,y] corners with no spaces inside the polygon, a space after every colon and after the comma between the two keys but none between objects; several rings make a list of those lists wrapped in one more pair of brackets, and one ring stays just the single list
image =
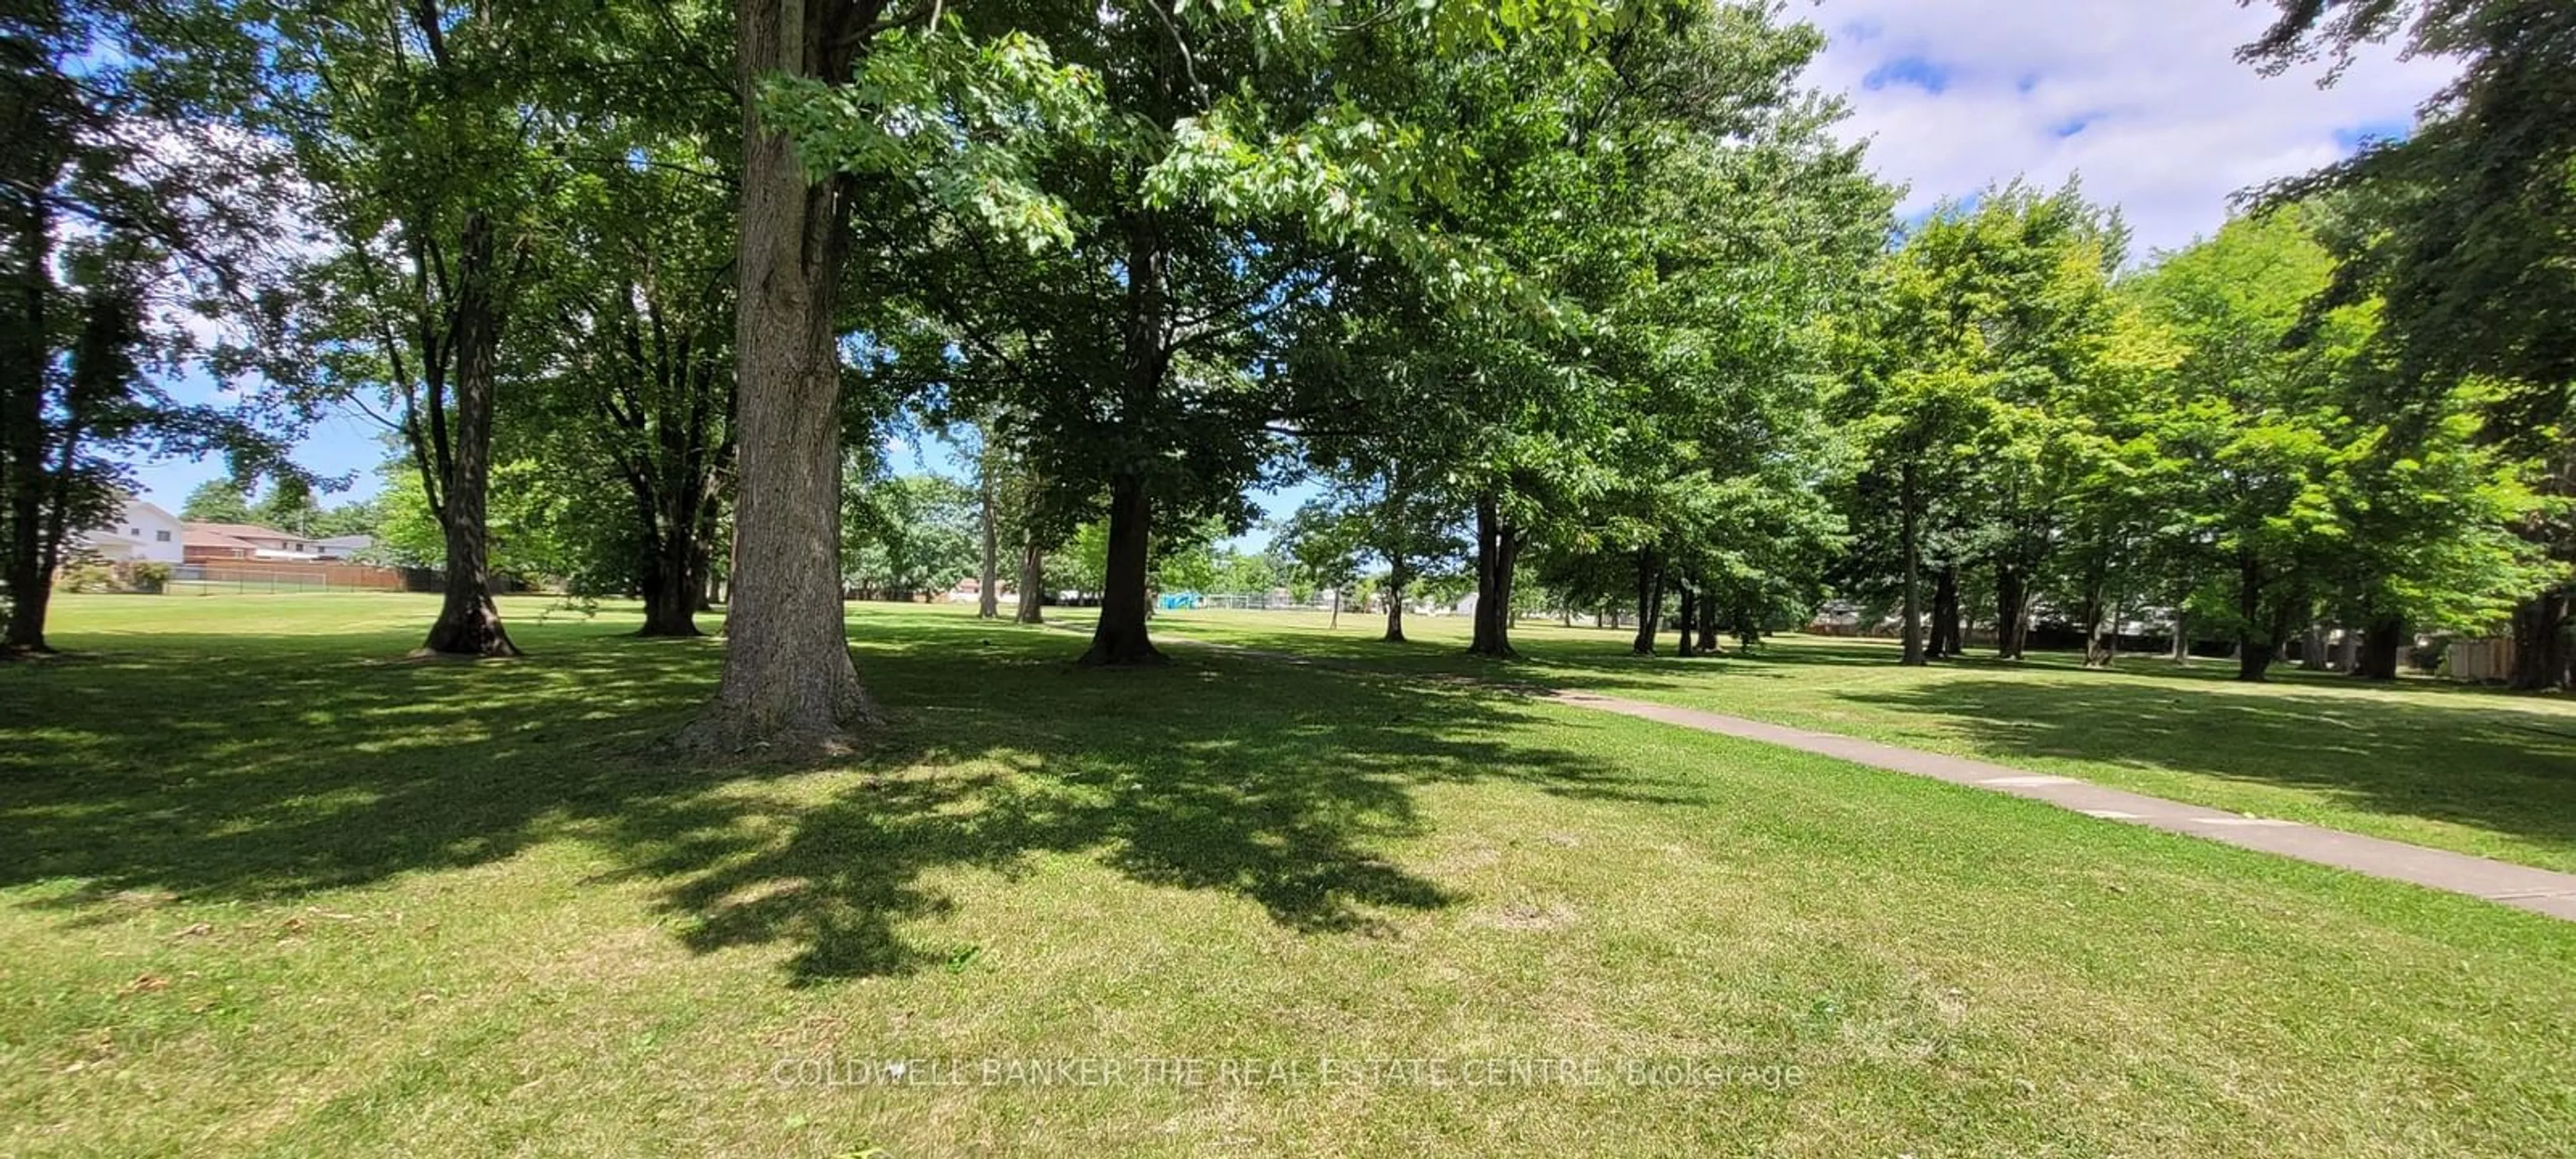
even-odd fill
[{"label": "leafy green trees with trunks spanning the whole width of the park", "polygon": [[[987,613],[1097,590],[1084,662],[1154,662],[1157,574],[1288,479],[1319,500],[1280,561],[1368,574],[1388,636],[1473,580],[1489,657],[1533,592],[1685,652],[1844,595],[1909,662],[2048,613],[2105,662],[2166,616],[2249,677],[2318,623],[2393,670],[2512,616],[2566,680],[2548,5],[2285,5],[2249,59],[2403,33],[2470,70],[2143,263],[2076,188],[1899,227],[1767,5],[21,8],[8,116],[52,152],[5,183],[18,646],[108,451],[283,492],[294,420],[353,407],[399,448],[386,523],[435,528],[428,649],[515,652],[495,525],[554,528],[544,567],[649,634],[724,587],[711,747],[863,724],[842,592],[922,559],[971,554]],[[173,404],[178,366],[247,402]],[[971,471],[889,476],[896,428]]]}]

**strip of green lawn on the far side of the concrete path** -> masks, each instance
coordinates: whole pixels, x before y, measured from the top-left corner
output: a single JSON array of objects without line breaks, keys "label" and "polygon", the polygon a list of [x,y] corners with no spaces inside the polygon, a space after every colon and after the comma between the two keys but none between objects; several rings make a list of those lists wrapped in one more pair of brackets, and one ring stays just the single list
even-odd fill
[{"label": "strip of green lawn on the far side of the concrete path", "polygon": [[[1164,634],[1329,654],[1401,672],[1476,672],[1736,713],[2174,801],[2365,832],[2414,845],[2576,871],[2576,701],[2442,680],[2365,685],[2275,667],[2241,685],[2236,664],[2123,657],[2087,672],[2069,654],[2012,664],[1968,657],[1899,667],[1893,641],[1780,636],[1721,659],[1633,657],[1633,631],[1512,628],[1530,662],[1463,657],[1463,618],[1414,616],[1409,646],[1383,621],[1306,613],[1172,613]],[[1734,644],[1734,641],[1728,641]]]}]

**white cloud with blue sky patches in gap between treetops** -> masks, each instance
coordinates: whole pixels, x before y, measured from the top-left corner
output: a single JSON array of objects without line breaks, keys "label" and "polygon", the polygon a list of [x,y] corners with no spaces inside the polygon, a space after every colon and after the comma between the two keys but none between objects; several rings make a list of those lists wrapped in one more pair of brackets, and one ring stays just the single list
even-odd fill
[{"label": "white cloud with blue sky patches in gap between treetops", "polygon": [[2027,175],[2084,178],[2138,232],[2138,258],[2215,232],[2228,196],[2393,131],[2452,77],[2437,59],[2362,57],[2262,77],[2236,46],[2272,18],[2231,0],[1816,0],[1808,82],[1850,95],[1847,134],[1909,185],[1904,214]]}]

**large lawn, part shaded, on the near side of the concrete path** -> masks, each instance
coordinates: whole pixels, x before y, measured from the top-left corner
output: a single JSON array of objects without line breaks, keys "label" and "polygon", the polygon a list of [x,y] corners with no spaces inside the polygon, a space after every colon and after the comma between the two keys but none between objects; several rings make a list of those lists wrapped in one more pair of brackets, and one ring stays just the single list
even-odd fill
[{"label": "large lawn, part shaded, on the near side of the concrete path", "polygon": [[[853,608],[868,752],[696,768],[719,644],[507,600],[531,659],[402,662],[433,608],[64,598],[85,654],[0,667],[0,1154],[2576,1151],[2568,922],[951,608]],[[1842,654],[1734,672],[1932,716]],[[2524,711],[2251,695],[2354,706],[2362,760],[2416,749],[2360,706]]]}]

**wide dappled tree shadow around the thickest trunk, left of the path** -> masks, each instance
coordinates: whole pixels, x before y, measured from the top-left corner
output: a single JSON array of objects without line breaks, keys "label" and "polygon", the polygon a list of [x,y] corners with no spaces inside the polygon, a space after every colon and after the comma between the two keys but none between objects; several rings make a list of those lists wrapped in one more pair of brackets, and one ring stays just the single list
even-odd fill
[{"label": "wide dappled tree shadow around the thickest trunk, left of the path", "polygon": [[1455,901],[1381,853],[1425,832],[1425,786],[1682,798],[1512,739],[1533,708],[1492,688],[1206,654],[1079,672],[1059,636],[971,621],[855,636],[894,724],[842,773],[657,757],[711,641],[562,628],[453,667],[348,659],[374,636],[139,636],[0,680],[0,886],[77,881],[23,904],[93,922],[118,894],[276,901],[582,840],[690,948],[793,945],[806,984],[935,961],[907,927],[953,907],[945,868],[1079,855],[1360,932]]}]

